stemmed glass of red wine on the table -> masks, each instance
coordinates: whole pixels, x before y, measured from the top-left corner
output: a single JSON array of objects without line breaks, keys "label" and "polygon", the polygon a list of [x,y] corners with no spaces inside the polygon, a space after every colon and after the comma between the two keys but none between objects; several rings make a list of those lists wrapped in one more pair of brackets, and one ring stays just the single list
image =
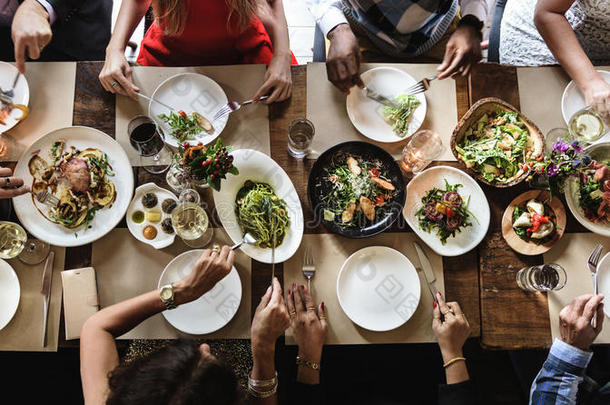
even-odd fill
[{"label": "stemmed glass of red wine on the table", "polygon": [[131,146],[140,155],[140,164],[144,170],[160,174],[169,168],[172,154],[165,146],[155,120],[146,115],[137,115],[129,121],[127,134]]}]

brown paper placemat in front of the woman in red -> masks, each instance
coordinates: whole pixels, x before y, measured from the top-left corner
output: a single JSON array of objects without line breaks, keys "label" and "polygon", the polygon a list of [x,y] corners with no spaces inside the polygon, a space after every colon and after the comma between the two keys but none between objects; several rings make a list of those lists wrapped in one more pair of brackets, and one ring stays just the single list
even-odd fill
[{"label": "brown paper placemat in front of the woman in red", "polygon": [[[142,94],[151,97],[165,79],[179,73],[200,73],[216,81],[227,94],[229,101],[251,99],[263,84],[264,65],[232,65],[203,67],[150,67],[133,68],[133,80]],[[249,105],[229,116],[227,126],[220,137],[225,145],[233,149],[255,149],[271,154],[269,140],[269,111],[264,104]],[[129,144],[127,124],[136,115],[148,114],[148,100],[134,101],[129,97],[116,96],[116,139],[127,152],[132,166],[139,166],[136,151]]]}]

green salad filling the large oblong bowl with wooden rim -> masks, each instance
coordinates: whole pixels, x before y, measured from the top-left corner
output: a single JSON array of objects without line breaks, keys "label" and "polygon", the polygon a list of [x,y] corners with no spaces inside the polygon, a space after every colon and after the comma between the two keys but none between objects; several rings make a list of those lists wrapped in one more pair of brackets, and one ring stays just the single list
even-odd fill
[{"label": "green salad filling the large oblong bowl with wooden rim", "polygon": [[489,182],[506,183],[518,176],[532,156],[530,134],[519,114],[498,109],[483,114],[455,146],[466,167]]}]

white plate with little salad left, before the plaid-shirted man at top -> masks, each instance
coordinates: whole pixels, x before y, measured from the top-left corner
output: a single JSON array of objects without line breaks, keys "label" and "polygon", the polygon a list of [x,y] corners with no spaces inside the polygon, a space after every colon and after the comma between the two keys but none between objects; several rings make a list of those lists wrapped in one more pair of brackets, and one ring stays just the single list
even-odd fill
[{"label": "white plate with little salad left, before the plaid-shirted man at top", "polygon": [[[410,74],[389,67],[367,70],[361,77],[366,86],[390,99],[403,94],[407,88],[417,83]],[[426,118],[426,96],[420,93],[415,97],[421,104],[413,112],[408,134],[404,137],[396,135],[392,126],[383,118],[383,105],[368,98],[360,88],[353,88],[347,96],[347,115],[356,129],[369,139],[378,142],[404,141],[419,129]]]}]

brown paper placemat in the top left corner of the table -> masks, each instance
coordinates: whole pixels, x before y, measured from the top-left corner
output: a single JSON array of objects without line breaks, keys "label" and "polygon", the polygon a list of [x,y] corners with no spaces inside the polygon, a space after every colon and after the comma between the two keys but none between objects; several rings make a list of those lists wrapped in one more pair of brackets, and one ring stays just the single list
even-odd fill
[{"label": "brown paper placemat in the top left corner of the table", "polygon": [[28,62],[25,77],[30,88],[30,113],[2,134],[3,161],[16,161],[43,135],[72,125],[76,62]]}]

